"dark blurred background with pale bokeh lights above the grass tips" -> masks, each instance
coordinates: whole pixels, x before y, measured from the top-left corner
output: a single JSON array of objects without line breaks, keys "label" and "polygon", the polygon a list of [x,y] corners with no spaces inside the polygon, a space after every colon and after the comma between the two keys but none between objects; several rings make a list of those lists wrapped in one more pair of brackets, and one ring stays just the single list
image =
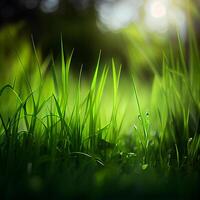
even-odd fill
[{"label": "dark blurred background with pale bokeh lights above the grass tips", "polygon": [[91,74],[102,51],[123,72],[135,70],[151,78],[149,65],[159,68],[163,51],[176,49],[177,33],[187,46],[189,26],[200,43],[199,0],[1,0],[0,78],[12,74],[16,55],[29,65],[33,38],[40,59],[60,59],[74,49],[72,68]]}]

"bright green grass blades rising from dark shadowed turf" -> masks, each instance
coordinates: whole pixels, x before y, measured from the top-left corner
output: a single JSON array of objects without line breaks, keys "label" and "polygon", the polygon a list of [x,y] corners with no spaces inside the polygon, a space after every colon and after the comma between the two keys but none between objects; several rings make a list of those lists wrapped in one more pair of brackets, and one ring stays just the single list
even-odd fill
[{"label": "bright green grass blades rising from dark shadowed turf", "polygon": [[[53,58],[0,89],[0,191],[18,197],[190,199],[200,170],[200,56],[194,37],[163,53],[145,89],[101,66],[91,82]],[[16,58],[17,59],[17,58]],[[50,68],[47,68],[50,66]],[[152,66],[151,66],[152,67]],[[19,74],[19,73],[18,73]],[[148,90],[148,92],[145,92]],[[196,196],[197,197],[197,196]]]}]

